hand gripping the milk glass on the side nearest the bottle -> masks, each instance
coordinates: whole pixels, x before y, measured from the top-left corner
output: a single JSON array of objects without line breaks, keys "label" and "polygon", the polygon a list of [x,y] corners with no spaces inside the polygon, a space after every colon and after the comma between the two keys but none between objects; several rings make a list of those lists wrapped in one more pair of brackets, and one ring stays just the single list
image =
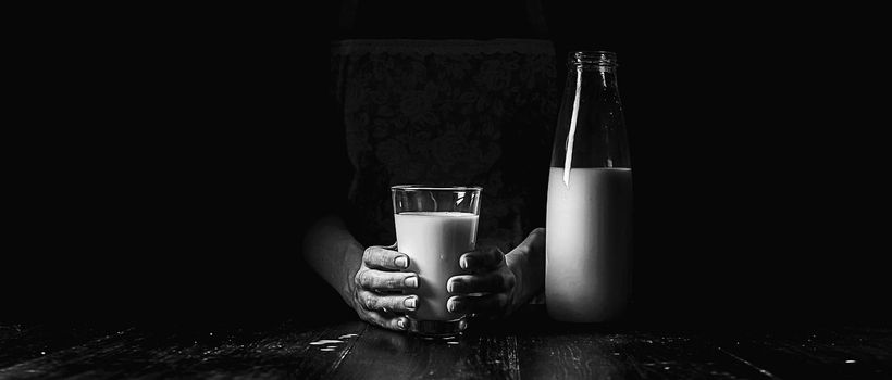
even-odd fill
[{"label": "hand gripping the milk glass on the side nearest the bottle", "polygon": [[508,254],[482,248],[459,258],[468,275],[446,282],[446,308],[456,314],[507,317],[542,290],[545,278],[545,229],[533,230]]}]

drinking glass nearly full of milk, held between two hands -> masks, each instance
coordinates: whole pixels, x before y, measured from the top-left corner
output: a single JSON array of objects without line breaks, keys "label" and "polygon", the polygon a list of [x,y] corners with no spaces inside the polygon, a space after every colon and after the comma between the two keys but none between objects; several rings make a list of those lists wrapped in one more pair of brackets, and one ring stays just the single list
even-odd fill
[{"label": "drinking glass nearly full of milk, held between two hands", "polygon": [[428,337],[448,337],[468,326],[466,315],[446,309],[446,281],[464,270],[461,254],[476,246],[480,193],[476,186],[398,185],[394,201],[397,250],[409,255],[407,270],[418,274],[418,308],[407,315],[408,330]]}]

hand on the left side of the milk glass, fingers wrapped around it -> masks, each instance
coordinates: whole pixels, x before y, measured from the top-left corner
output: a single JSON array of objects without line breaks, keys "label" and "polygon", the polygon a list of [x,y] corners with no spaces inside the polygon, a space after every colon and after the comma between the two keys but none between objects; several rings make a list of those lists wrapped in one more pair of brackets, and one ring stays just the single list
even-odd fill
[{"label": "hand on the left side of the milk glass, fingers wrapped around it", "polygon": [[392,330],[406,330],[405,314],[418,308],[418,295],[401,291],[418,289],[418,274],[401,271],[409,267],[409,256],[391,246],[373,245],[362,254],[362,265],[350,287],[351,306],[359,318]]}]

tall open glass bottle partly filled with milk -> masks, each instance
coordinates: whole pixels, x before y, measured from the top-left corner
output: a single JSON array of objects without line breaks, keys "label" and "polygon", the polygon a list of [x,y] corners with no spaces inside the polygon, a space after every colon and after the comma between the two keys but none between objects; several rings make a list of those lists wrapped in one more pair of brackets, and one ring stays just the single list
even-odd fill
[{"label": "tall open glass bottle partly filled with milk", "polygon": [[621,317],[631,288],[632,165],[617,56],[575,51],[548,177],[545,302],[575,322]]}]

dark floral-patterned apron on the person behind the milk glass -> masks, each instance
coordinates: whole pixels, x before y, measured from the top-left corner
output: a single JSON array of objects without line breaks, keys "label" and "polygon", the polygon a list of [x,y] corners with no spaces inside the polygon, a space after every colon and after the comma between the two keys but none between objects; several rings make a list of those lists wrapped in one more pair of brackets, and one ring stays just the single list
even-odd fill
[{"label": "dark floral-patterned apron on the person behind the milk glass", "polygon": [[389,187],[400,183],[482,186],[478,244],[508,252],[544,226],[554,65],[543,40],[336,42],[357,239],[395,241]]}]

